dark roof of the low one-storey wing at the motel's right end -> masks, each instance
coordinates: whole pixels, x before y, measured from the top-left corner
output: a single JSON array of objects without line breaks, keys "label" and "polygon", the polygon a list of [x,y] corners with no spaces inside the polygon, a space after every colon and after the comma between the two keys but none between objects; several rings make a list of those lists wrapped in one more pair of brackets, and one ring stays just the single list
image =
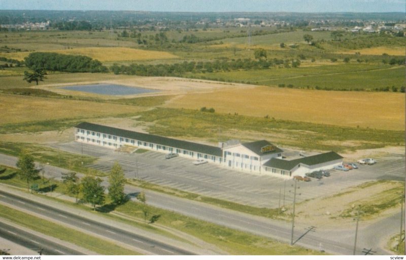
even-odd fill
[{"label": "dark roof of the low one-storey wing at the motel's right end", "polygon": [[334,160],[339,160],[343,159],[343,157],[335,152],[328,152],[320,155],[314,155],[314,156],[309,156],[309,157],[303,157],[291,161],[287,160],[282,160],[282,159],[277,159],[277,158],[272,158],[269,161],[267,161],[264,166],[267,167],[273,167],[277,169],[282,169],[282,170],[291,170],[296,165],[299,163],[306,164],[306,165],[316,165],[320,163],[326,163],[329,161],[334,161]]}]

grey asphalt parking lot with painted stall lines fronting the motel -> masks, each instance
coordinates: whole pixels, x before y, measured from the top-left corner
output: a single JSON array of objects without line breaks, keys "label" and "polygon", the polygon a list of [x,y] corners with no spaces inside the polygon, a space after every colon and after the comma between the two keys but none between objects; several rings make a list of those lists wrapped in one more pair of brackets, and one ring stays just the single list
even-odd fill
[{"label": "grey asphalt parking lot with painted stall lines fronting the motel", "polygon": [[[278,207],[293,200],[293,180],[269,175],[254,175],[225,169],[219,165],[195,166],[185,158],[164,159],[162,153],[148,151],[141,154],[122,154],[109,148],[70,142],[59,144],[61,150],[96,156],[100,159],[89,167],[109,171],[118,162],[127,178],[140,178],[158,185],[200,194],[203,196],[247,204],[256,207]],[[404,180],[404,157],[388,154],[376,158],[372,166],[360,165],[359,169],[342,172],[330,170],[330,177],[298,183],[296,200],[302,201],[337,193],[348,187],[375,179]]]}]

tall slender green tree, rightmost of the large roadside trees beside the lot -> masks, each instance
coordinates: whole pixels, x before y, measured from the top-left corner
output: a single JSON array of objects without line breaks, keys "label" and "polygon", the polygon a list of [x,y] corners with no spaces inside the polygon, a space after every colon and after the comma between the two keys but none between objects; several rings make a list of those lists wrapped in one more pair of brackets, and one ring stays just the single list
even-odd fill
[{"label": "tall slender green tree, rightmost of the large roadside trees beside the lot", "polygon": [[109,175],[109,196],[114,204],[119,205],[125,200],[125,176],[121,166],[116,162]]}]

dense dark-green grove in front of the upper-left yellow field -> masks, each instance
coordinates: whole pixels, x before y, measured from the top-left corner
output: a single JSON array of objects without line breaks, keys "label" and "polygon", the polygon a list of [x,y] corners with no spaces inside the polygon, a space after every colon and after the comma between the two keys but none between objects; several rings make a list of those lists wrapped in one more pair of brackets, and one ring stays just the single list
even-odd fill
[{"label": "dense dark-green grove in front of the upper-left yellow field", "polygon": [[66,72],[107,72],[100,61],[83,55],[65,55],[52,52],[33,52],[25,58],[25,65],[31,69],[45,69]]}]

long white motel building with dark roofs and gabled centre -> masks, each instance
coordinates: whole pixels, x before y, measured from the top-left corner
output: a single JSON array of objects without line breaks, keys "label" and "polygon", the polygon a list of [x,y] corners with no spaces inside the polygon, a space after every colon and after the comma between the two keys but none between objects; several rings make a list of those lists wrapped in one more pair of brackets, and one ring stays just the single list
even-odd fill
[{"label": "long white motel building with dark roofs and gabled centre", "polygon": [[179,157],[205,159],[228,169],[282,178],[329,170],[343,163],[343,157],[335,152],[286,160],[282,156],[283,150],[266,140],[246,143],[231,140],[212,146],[87,122],[75,127],[75,140],[115,150],[129,146],[134,150],[143,148],[164,154],[176,153]]}]

